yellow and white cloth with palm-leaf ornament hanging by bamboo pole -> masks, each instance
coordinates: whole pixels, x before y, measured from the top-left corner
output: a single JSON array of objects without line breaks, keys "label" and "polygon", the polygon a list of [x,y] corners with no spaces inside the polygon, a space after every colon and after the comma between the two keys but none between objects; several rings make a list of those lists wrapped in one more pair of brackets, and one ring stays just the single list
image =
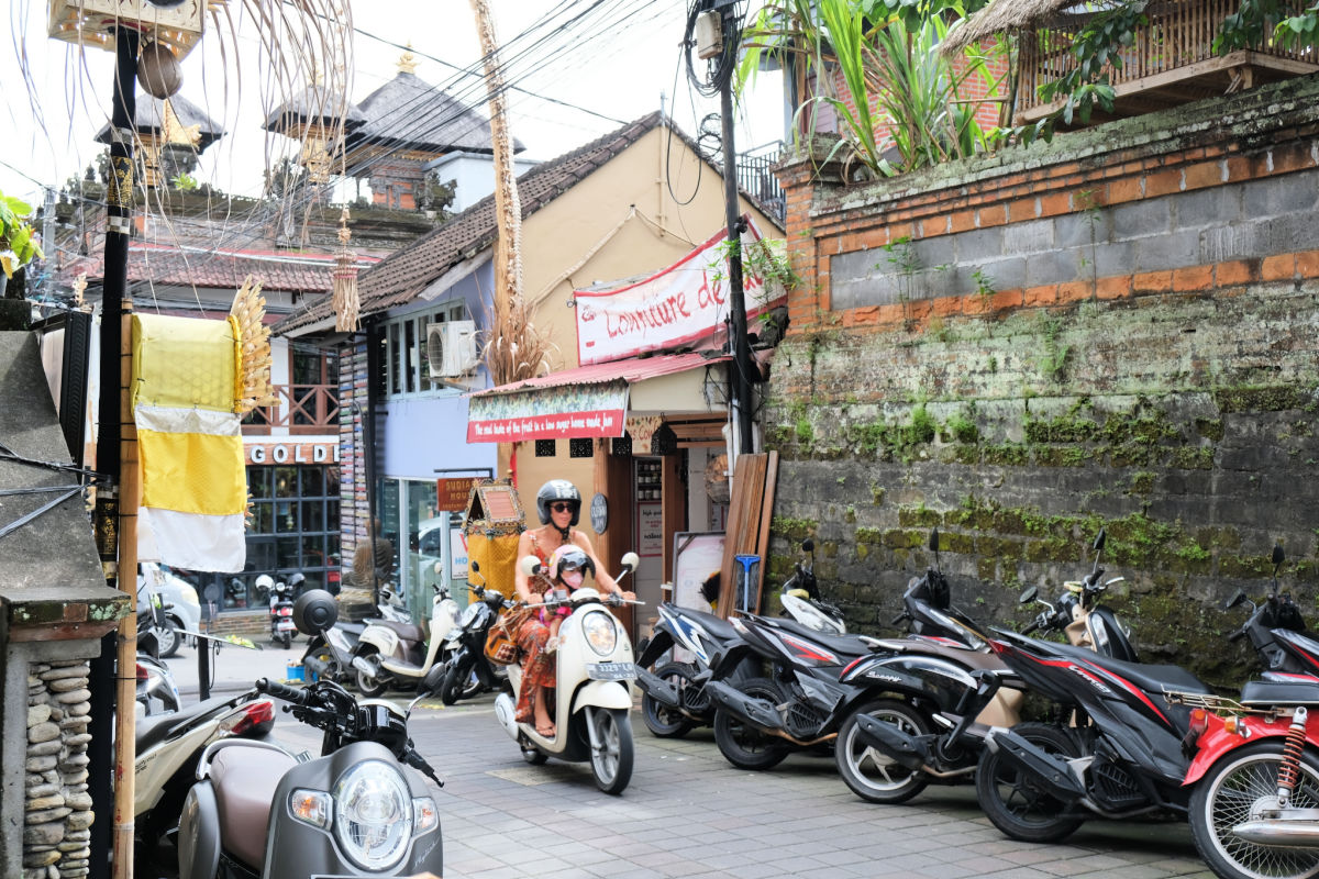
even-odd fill
[{"label": "yellow and white cloth with palm-leaf ornament hanging by bamboo pole", "polygon": [[[270,397],[262,310],[259,289],[244,283],[235,302],[243,314],[228,320],[133,315],[142,561],[243,569],[248,497],[241,412],[269,405]],[[262,354],[264,369],[256,362]]]}]

